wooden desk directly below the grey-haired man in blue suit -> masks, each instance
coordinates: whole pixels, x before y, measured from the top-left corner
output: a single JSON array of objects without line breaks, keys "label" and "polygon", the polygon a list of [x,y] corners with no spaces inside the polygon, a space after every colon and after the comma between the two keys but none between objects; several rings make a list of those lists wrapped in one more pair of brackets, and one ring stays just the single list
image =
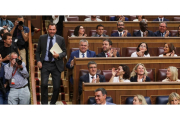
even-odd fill
[{"label": "wooden desk directly below the grey-haired man in blue suit", "polygon": [[150,57],[150,58],[75,58],[73,69],[73,104],[78,103],[78,86],[80,78],[80,69],[88,69],[87,64],[89,61],[97,63],[97,68],[100,70],[108,70],[112,67],[117,68],[119,64],[128,65],[130,71],[137,63],[143,63],[146,68],[156,69],[155,80],[157,79],[158,69],[164,69],[169,66],[180,67],[180,57]]}]

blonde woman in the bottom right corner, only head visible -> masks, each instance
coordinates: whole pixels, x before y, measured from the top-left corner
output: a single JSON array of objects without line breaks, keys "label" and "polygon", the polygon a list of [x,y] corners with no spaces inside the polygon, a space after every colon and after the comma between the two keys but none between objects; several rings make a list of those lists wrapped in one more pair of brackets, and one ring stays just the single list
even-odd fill
[{"label": "blonde woman in the bottom right corner, only head visible", "polygon": [[169,95],[169,99],[168,99],[168,105],[179,105],[180,103],[180,96],[179,94],[177,94],[176,92],[172,92]]}]

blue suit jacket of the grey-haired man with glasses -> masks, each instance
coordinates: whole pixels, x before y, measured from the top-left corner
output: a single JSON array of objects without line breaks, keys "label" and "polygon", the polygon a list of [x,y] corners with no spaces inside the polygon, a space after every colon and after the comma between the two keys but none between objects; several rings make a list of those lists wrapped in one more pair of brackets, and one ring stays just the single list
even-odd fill
[{"label": "blue suit jacket of the grey-haired man with glasses", "polygon": [[[70,67],[70,64],[71,64],[71,60],[73,60],[74,57],[79,58],[79,50],[73,51],[73,52],[71,53],[71,56],[70,56],[68,62],[66,63],[66,67],[67,67],[67,68],[72,69],[72,68]],[[87,50],[87,57],[96,57],[96,53],[95,53],[94,51]]]}]

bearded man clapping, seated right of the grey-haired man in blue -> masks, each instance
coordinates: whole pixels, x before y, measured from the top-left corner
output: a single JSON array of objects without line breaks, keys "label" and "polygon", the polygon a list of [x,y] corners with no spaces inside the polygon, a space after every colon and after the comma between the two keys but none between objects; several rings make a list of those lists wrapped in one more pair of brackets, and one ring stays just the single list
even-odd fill
[{"label": "bearded man clapping, seated right of the grey-haired man in blue", "polygon": [[96,57],[120,57],[119,52],[115,49],[111,49],[112,41],[110,39],[104,39],[102,44],[103,52],[96,55]]}]

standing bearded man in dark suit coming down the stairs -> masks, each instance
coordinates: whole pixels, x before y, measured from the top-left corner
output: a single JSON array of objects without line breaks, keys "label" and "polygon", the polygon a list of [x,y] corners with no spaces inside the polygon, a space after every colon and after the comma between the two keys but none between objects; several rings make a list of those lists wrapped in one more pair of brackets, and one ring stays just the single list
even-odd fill
[{"label": "standing bearded man in dark suit coming down the stairs", "polygon": [[[53,95],[50,104],[56,104],[59,96],[61,72],[64,70],[63,57],[66,56],[64,38],[56,35],[56,25],[48,25],[48,34],[41,35],[36,50],[37,66],[41,69],[41,104],[48,104],[48,79],[52,75]],[[50,52],[52,46],[57,43],[62,53]],[[41,55],[41,57],[40,57]]]}]

